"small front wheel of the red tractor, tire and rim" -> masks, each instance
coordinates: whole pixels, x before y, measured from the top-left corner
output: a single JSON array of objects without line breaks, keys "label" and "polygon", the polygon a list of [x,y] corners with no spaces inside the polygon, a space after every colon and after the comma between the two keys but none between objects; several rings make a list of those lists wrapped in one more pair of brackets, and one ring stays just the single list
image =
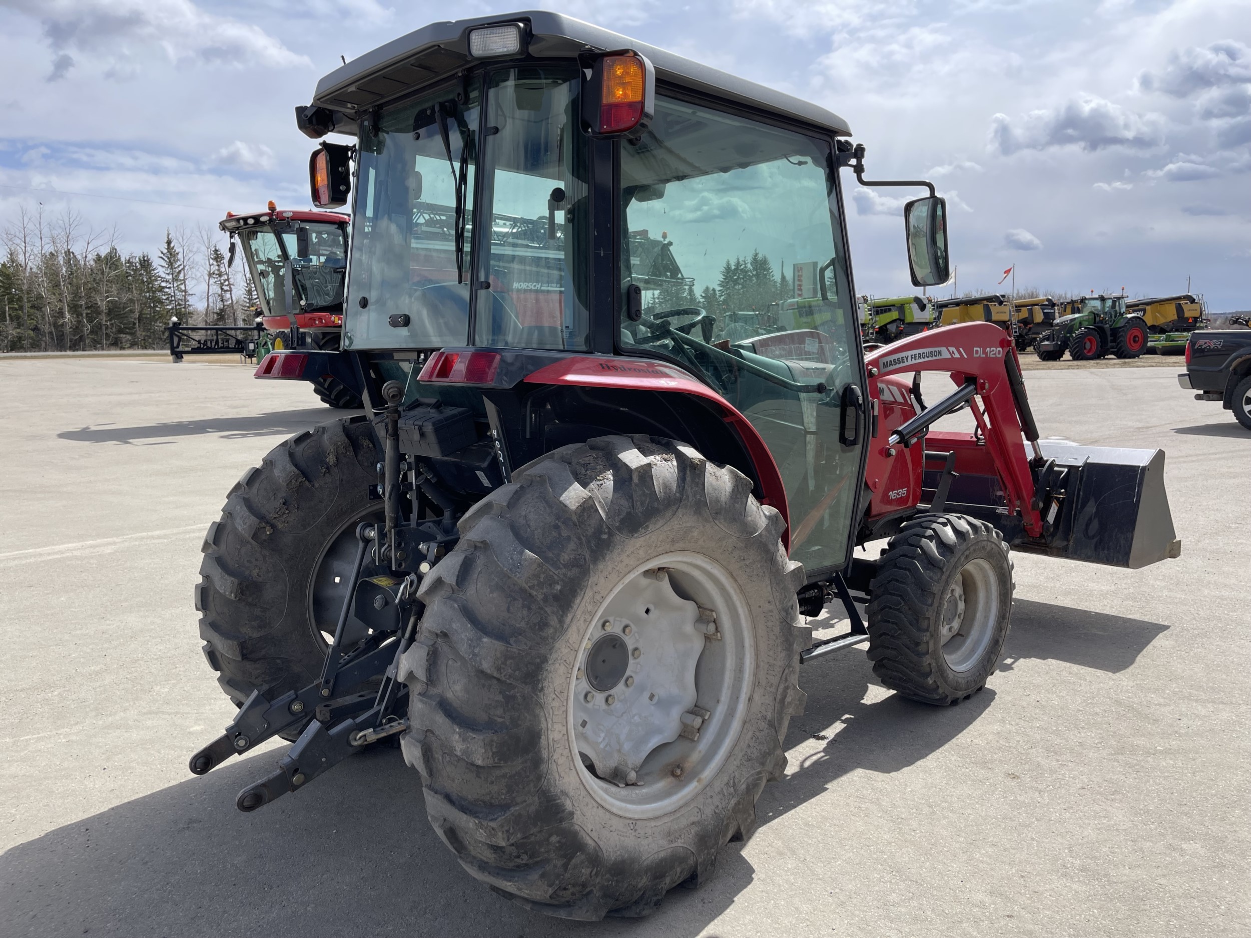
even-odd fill
[{"label": "small front wheel of the red tractor, tire and rim", "polygon": [[960,703],[995,672],[1012,617],[1012,560],[993,525],[928,514],[891,538],[868,604],[868,657],[892,690]]}]

